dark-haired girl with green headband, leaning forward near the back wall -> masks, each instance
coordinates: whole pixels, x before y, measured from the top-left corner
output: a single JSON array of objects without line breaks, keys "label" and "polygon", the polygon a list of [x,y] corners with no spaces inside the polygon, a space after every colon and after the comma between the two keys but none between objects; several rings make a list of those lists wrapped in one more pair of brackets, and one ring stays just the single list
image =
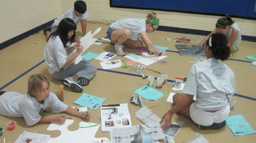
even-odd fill
[{"label": "dark-haired girl with green headband, leaning forward near the back wall", "polygon": [[215,29],[209,34],[203,41],[199,42],[198,45],[204,45],[210,36],[214,33],[223,33],[228,38],[228,47],[230,52],[235,51],[241,42],[241,28],[236,24],[229,15],[218,19],[215,24]]}]

